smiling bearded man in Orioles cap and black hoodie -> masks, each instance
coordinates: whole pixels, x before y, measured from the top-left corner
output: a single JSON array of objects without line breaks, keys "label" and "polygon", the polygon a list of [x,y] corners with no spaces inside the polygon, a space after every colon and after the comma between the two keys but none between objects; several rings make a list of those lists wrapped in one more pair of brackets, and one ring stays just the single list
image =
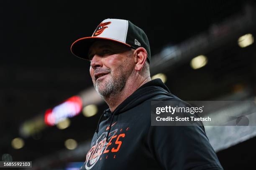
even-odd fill
[{"label": "smiling bearded man in Orioles cap and black hoodie", "polygon": [[[222,170],[203,126],[151,126],[151,100],[187,105],[151,80],[150,47],[128,20],[106,19],[71,46],[109,108],[100,117],[82,170]],[[106,120],[102,120],[102,117]]]}]

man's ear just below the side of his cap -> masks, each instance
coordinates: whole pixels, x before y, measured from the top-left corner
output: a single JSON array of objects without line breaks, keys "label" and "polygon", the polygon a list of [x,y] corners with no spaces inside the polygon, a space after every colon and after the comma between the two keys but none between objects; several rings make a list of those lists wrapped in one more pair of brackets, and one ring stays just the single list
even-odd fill
[{"label": "man's ear just below the side of his cap", "polygon": [[141,71],[143,66],[145,65],[145,62],[147,60],[148,53],[143,47],[138,47],[134,51],[134,62],[135,62],[135,70],[136,71]]}]

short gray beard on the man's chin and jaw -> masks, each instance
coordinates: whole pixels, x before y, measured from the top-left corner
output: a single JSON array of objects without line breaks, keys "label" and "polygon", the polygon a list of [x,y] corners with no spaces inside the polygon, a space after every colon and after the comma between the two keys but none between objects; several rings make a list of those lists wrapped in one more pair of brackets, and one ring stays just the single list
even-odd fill
[{"label": "short gray beard on the man's chin and jaw", "polygon": [[[101,95],[101,97],[104,99],[106,97],[109,97],[111,95],[115,95],[118,92],[120,92],[123,87],[125,86],[127,77],[125,75],[122,75],[120,77],[112,77],[110,80],[103,82],[96,81],[94,84],[94,87],[96,91]],[[100,86],[104,88],[100,88]]]}]

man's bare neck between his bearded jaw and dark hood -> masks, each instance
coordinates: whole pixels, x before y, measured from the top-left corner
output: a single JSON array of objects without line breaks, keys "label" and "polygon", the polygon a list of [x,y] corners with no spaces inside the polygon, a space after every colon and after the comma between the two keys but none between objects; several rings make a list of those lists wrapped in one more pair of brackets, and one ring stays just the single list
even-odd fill
[{"label": "man's bare neck between his bearded jaw and dark hood", "polygon": [[113,112],[118,105],[120,105],[127,97],[133,94],[139,87],[151,80],[150,77],[137,77],[136,80],[128,79],[123,89],[113,95],[104,97],[105,102],[108,104],[110,111]]}]

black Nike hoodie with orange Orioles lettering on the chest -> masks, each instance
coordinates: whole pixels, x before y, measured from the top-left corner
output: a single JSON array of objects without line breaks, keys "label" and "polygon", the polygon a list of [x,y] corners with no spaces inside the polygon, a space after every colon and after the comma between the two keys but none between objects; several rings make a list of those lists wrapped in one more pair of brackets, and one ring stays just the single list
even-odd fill
[{"label": "black Nike hoodie with orange Orioles lettering on the chest", "polygon": [[145,83],[104,111],[81,169],[223,170],[203,126],[151,126],[151,100],[186,105],[161,79]]}]

